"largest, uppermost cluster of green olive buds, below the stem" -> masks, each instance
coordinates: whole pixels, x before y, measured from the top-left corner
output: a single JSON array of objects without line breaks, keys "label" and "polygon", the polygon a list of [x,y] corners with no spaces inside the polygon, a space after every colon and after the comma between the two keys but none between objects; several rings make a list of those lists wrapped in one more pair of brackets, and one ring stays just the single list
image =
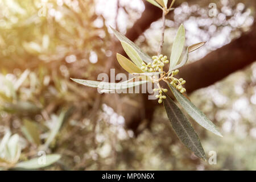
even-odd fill
[{"label": "largest, uppermost cluster of green olive buds, below the stem", "polygon": [[159,56],[152,56],[153,62],[152,63],[144,63],[142,62],[142,71],[145,72],[161,72],[163,71],[164,64],[169,63],[167,60],[167,56],[159,55]]}]

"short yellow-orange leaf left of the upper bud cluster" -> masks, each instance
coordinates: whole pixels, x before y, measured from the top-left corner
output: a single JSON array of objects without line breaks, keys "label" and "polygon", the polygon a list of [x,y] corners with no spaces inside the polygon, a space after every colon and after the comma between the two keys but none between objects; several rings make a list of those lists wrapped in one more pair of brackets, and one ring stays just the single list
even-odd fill
[{"label": "short yellow-orange leaf left of the upper bud cluster", "polygon": [[125,71],[128,73],[143,73],[143,71],[133,64],[129,59],[117,53],[117,61]]}]

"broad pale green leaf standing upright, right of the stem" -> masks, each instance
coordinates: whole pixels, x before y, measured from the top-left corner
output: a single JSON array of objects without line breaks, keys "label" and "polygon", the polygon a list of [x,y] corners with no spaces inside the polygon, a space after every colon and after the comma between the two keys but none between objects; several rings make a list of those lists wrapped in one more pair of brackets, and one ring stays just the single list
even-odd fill
[{"label": "broad pale green leaf standing upright, right of the stem", "polygon": [[179,61],[180,55],[183,51],[184,43],[185,43],[185,28],[183,24],[181,24],[175,36],[174,43],[172,44],[169,70],[172,70],[176,66],[177,62]]}]

